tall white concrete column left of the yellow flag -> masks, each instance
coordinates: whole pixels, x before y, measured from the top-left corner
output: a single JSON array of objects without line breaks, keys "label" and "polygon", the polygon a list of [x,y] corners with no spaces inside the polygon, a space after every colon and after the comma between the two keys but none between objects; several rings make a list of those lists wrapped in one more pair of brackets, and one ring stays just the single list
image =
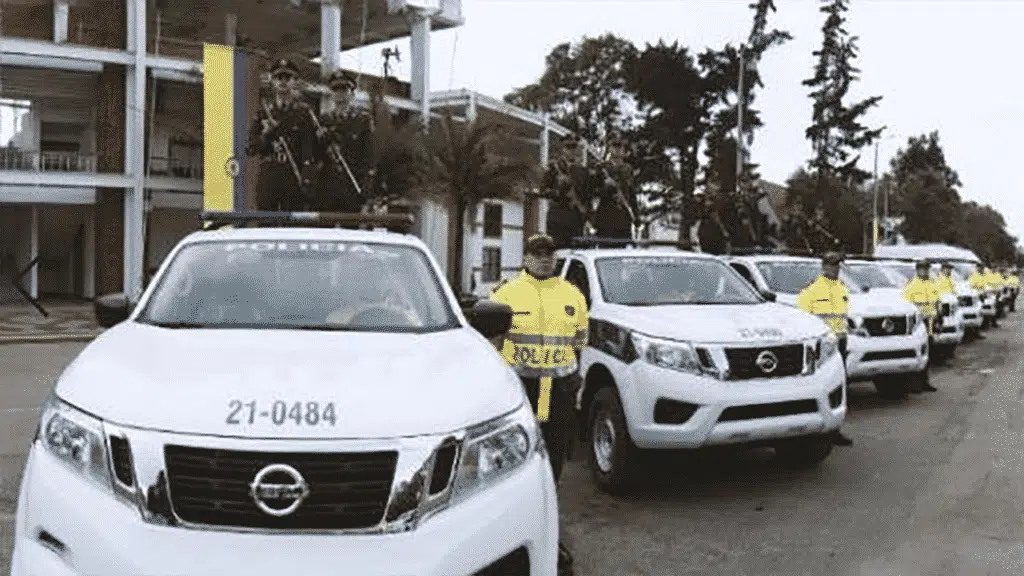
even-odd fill
[{"label": "tall white concrete column left of the yellow flag", "polygon": [[135,63],[125,75],[125,172],[132,187],[125,191],[124,291],[136,299],[142,293],[145,245],[145,2],[129,2],[128,17]]}]

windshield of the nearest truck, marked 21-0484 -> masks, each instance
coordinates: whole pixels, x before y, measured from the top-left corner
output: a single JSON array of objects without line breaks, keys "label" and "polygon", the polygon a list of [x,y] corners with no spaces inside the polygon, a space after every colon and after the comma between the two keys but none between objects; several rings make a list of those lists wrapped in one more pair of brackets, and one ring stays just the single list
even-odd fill
[{"label": "windshield of the nearest truck, marked 21-0484", "polygon": [[184,246],[139,322],[183,328],[430,332],[457,327],[426,254],[351,242]]}]

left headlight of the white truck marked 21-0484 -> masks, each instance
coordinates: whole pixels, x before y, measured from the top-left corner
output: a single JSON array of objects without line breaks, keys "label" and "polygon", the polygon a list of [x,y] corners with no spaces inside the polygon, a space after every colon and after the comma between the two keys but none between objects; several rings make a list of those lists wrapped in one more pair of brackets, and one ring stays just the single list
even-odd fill
[{"label": "left headlight of the white truck marked 21-0484", "polygon": [[72,469],[112,486],[103,425],[96,418],[50,396],[43,405],[39,442]]}]

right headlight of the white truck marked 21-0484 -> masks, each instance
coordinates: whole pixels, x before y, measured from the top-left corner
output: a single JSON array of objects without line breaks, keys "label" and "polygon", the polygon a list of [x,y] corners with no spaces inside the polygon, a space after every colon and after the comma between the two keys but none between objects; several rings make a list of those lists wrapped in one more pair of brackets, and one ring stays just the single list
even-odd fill
[{"label": "right headlight of the white truck marked 21-0484", "polygon": [[529,404],[471,428],[459,459],[453,499],[465,498],[508,477],[535,450],[544,450],[544,441]]}]

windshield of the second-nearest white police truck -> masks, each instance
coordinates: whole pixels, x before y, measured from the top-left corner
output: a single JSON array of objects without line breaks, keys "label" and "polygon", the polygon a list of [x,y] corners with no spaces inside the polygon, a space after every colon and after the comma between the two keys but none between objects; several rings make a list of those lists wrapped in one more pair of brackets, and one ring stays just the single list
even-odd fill
[{"label": "windshield of the second-nearest white police truck", "polygon": [[764,301],[735,271],[711,258],[605,257],[596,261],[605,301],[626,305],[756,304]]}]

